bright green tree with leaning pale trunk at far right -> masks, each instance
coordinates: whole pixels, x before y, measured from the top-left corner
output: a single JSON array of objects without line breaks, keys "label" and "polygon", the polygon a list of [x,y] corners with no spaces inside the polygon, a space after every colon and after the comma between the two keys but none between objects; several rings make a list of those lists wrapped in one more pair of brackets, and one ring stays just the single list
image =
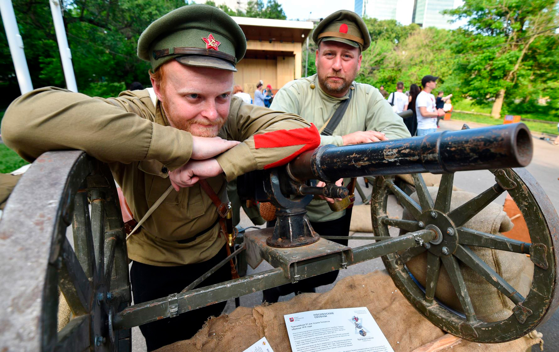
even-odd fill
[{"label": "bright green tree with leaning pale trunk at far right", "polygon": [[533,73],[530,58],[539,60],[534,43],[557,36],[557,0],[467,0],[446,13],[468,20],[454,45],[454,52],[461,55],[457,71],[466,94],[478,102],[490,94],[491,115],[499,117],[506,91]]}]

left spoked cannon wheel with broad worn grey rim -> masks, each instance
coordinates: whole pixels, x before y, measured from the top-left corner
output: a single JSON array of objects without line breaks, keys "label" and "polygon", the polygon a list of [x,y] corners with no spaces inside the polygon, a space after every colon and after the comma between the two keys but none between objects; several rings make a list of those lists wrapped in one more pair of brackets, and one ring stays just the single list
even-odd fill
[{"label": "left spoked cannon wheel with broad worn grey rim", "polygon": [[[131,350],[130,330],[111,326],[131,301],[122,227],[106,164],[82,151],[37,158],[0,220],[0,306],[9,317],[0,350]],[[60,331],[58,288],[72,311]]]}]

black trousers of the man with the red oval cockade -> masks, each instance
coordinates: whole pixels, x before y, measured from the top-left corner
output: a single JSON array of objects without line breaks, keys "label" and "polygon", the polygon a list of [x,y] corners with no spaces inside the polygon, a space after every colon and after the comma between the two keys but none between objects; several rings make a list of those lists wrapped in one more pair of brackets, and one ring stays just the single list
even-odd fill
[{"label": "black trousers of the man with the red oval cockade", "polygon": [[[321,236],[349,236],[349,223],[351,221],[352,209],[346,209],[345,215],[339,219],[322,221],[320,223],[315,223],[311,221],[311,226]],[[268,227],[273,226],[275,220],[268,222]],[[339,244],[348,245],[348,239],[333,239],[333,242]],[[286,283],[285,285],[269,288],[268,290],[262,291],[263,301],[268,303],[277,302],[279,296],[286,296],[292,292],[298,295],[300,292],[315,292],[315,287],[330,285],[336,281],[338,277],[338,270],[334,270],[328,273],[313,276],[307,279],[303,279],[296,283]]]}]

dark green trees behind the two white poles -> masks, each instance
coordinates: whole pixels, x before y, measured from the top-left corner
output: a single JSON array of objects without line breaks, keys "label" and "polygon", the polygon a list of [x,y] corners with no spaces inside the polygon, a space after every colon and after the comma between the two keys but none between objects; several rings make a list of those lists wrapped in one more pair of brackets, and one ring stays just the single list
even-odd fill
[{"label": "dark green trees behind the two white poles", "polygon": [[[185,3],[184,0],[64,1],[64,24],[78,89],[107,96],[120,93],[132,81],[149,84],[149,63],[136,56],[138,38],[151,22]],[[13,7],[33,85],[64,87],[48,3],[13,0]],[[9,52],[7,47],[2,32],[3,54]],[[9,102],[19,91],[10,55],[2,56],[0,67],[0,88]]]}]

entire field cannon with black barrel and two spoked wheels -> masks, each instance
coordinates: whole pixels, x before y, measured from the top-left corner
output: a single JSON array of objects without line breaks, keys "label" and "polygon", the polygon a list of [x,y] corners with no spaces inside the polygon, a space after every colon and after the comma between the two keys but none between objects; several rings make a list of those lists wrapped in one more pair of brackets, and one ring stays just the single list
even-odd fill
[{"label": "entire field cannon with black barrel and two spoked wheels", "polygon": [[[531,157],[532,140],[522,123],[319,147],[285,167],[245,177],[246,195],[272,202],[277,223],[236,238],[231,257],[241,254],[240,278],[197,288],[201,277],[182,292],[131,306],[126,235],[108,166],[82,151],[44,153],[16,186],[0,221],[4,315],[0,340],[10,341],[9,350],[18,351],[130,351],[133,326],[172,319],[212,303],[377,257],[410,303],[440,329],[480,343],[517,339],[546,321],[559,302],[559,218],[523,168]],[[485,169],[494,175],[495,185],[451,210],[454,172]],[[443,173],[436,197],[430,195],[419,172]],[[392,175],[402,173],[413,174],[418,202],[395,185]],[[317,194],[347,195],[348,190],[334,182],[360,176],[376,176],[371,200],[374,236],[359,237],[375,242],[350,248],[332,242],[336,234],[320,238],[305,217],[305,206]],[[309,180],[322,180],[326,186],[312,186]],[[465,227],[504,192],[522,211],[531,243]],[[387,216],[389,194],[397,197],[413,220]],[[389,226],[403,234],[391,236]],[[534,271],[528,295],[520,295],[471,247],[529,254]],[[425,287],[406,267],[411,258],[424,252]],[[274,268],[245,275],[247,263],[255,268],[263,260]],[[496,322],[480,320],[459,262],[508,297],[514,303],[513,314]],[[442,267],[457,293],[459,311],[440,304],[435,295]],[[74,314],[60,331],[58,290]]]}]

